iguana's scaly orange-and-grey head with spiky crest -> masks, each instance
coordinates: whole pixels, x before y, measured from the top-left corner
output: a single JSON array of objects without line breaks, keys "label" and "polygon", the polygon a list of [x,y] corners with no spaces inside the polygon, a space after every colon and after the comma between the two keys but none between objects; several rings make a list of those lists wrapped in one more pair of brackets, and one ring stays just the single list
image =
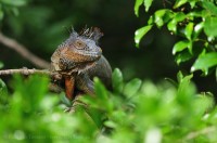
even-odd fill
[{"label": "iguana's scaly orange-and-grey head with spiky crest", "polygon": [[60,44],[51,56],[54,70],[86,68],[98,61],[102,55],[102,50],[98,46],[102,36],[97,27],[85,28],[79,34],[73,30],[69,38]]}]

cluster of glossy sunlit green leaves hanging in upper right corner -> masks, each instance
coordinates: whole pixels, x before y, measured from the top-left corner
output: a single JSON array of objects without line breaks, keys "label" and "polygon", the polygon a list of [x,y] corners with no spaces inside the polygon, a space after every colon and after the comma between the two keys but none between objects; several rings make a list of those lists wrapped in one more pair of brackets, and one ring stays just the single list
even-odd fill
[{"label": "cluster of glossy sunlit green leaves hanging in upper right corner", "polygon": [[[165,1],[167,2],[167,1]],[[135,13],[139,15],[139,8],[144,4],[148,12],[152,0],[136,0]],[[177,64],[195,58],[191,72],[202,70],[208,75],[217,70],[217,6],[210,0],[176,0],[170,2],[171,9],[159,9],[149,18],[148,25],[136,31],[137,47],[141,38],[153,26],[167,29],[175,36],[181,37],[173,49]],[[217,78],[217,77],[216,77]]]}]

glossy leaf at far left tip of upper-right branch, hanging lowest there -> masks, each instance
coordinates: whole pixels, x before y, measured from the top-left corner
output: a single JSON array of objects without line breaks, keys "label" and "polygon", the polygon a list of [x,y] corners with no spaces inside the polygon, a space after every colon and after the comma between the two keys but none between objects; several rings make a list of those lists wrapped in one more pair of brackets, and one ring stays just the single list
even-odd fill
[{"label": "glossy leaf at far left tip of upper-right branch, hanging lowest there", "polygon": [[139,48],[139,43],[140,40],[142,39],[142,37],[152,28],[153,25],[148,25],[144,26],[138,30],[136,30],[135,32],[135,42],[136,42],[136,47]]}]

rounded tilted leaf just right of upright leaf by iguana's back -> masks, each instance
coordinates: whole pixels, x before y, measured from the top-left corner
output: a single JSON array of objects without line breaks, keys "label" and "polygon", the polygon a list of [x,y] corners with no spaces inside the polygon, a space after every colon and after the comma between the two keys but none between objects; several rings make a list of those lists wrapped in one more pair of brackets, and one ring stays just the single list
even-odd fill
[{"label": "rounded tilted leaf just right of upright leaf by iguana's back", "polygon": [[132,79],[131,81],[129,81],[125,87],[124,87],[124,94],[127,98],[132,96],[133,94],[136,94],[138,92],[138,90],[141,87],[142,81],[138,78]]}]

